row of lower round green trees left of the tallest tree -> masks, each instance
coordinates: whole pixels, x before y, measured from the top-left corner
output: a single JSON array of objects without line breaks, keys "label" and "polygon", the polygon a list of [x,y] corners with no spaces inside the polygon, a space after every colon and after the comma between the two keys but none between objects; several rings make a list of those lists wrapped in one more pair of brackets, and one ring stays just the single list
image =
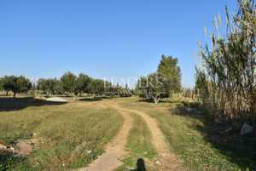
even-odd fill
[{"label": "row of lower round green trees left of the tallest tree", "polygon": [[0,77],[0,90],[5,91],[6,95],[13,92],[16,94],[26,94],[32,91],[33,94],[61,94],[81,96],[82,94],[92,95],[119,95],[122,97],[131,96],[131,89],[128,86],[125,88],[112,83],[89,77],[84,73],[78,76],[68,71],[64,73],[60,79],[57,78],[40,78],[37,83],[32,83],[30,79],[24,76],[4,76]]}]

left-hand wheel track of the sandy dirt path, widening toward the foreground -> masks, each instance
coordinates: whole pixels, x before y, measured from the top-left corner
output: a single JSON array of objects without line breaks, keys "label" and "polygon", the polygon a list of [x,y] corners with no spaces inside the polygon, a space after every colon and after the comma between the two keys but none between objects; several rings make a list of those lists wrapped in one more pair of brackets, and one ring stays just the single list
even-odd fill
[{"label": "left-hand wheel track of the sandy dirt path, widening toward the foreground", "polygon": [[111,141],[102,156],[92,162],[86,168],[80,168],[78,171],[113,171],[123,164],[120,161],[125,156],[125,143],[131,129],[132,118],[129,112],[120,111],[124,117],[123,127],[119,130],[119,134]]}]

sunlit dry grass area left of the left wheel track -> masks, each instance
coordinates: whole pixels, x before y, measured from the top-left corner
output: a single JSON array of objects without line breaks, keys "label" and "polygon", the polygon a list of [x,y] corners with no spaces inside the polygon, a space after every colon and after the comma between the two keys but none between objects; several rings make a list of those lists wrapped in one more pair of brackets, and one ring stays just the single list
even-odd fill
[{"label": "sunlit dry grass area left of the left wheel track", "polygon": [[0,152],[3,170],[67,170],[83,167],[102,154],[103,146],[118,133],[123,123],[118,112],[95,105],[33,103],[31,100],[19,101],[14,105],[14,110],[22,106],[18,111],[11,108],[0,110],[0,141],[3,144],[32,138],[38,141],[32,154],[26,158]]}]

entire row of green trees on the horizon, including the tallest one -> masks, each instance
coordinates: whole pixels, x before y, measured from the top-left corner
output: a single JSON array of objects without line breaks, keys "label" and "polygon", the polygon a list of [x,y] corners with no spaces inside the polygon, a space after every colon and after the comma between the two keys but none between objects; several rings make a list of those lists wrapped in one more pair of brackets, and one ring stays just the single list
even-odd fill
[{"label": "entire row of green trees on the horizon, including the tallest one", "polygon": [[113,85],[106,80],[89,77],[84,73],[76,76],[70,71],[64,73],[59,79],[40,78],[34,84],[24,76],[1,77],[0,90],[5,91],[6,95],[11,91],[14,97],[17,93],[25,94],[28,91],[46,95],[73,94],[75,97],[84,93],[121,97],[137,94],[158,103],[161,98],[171,97],[173,93],[181,91],[181,71],[177,62],[177,58],[162,55],[157,71],[146,77],[140,77],[135,90],[131,90],[127,85],[125,88],[119,84]]}]

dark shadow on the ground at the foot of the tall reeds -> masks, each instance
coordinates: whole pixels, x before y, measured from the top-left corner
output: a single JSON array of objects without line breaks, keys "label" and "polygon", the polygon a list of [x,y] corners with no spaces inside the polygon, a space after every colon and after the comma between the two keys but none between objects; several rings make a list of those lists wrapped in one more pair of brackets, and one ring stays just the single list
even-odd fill
[{"label": "dark shadow on the ground at the foot of the tall reeds", "polygon": [[202,125],[193,124],[189,127],[200,131],[207,142],[242,170],[256,170],[256,135],[240,136],[241,124],[232,127],[231,123],[215,123],[211,111],[195,104],[179,105],[172,109],[172,113],[200,120]]}]

